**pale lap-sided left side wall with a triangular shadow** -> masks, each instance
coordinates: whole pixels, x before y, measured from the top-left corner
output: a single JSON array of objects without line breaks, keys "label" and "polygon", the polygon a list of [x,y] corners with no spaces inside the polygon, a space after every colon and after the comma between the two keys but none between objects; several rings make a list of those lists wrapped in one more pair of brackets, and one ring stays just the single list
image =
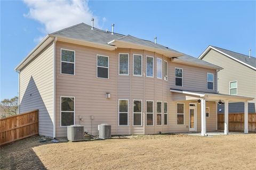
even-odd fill
[{"label": "pale lap-sided left side wall with a triangular shadow", "polygon": [[20,113],[39,109],[39,135],[53,137],[53,43],[20,71]]}]

